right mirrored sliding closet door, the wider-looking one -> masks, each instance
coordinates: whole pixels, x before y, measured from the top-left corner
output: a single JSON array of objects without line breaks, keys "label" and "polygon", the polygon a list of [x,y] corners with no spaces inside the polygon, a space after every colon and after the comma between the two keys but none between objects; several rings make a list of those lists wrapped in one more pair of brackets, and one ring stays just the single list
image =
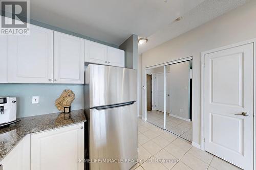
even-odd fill
[{"label": "right mirrored sliding closet door, the wider-looking one", "polygon": [[191,61],[165,66],[166,130],[191,141]]}]

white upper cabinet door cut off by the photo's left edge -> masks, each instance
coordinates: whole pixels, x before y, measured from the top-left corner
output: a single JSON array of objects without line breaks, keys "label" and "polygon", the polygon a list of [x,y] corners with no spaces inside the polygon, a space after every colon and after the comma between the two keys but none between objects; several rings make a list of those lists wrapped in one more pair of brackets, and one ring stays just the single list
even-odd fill
[{"label": "white upper cabinet door cut off by the photo's left edge", "polygon": [[0,38],[0,83],[8,83],[8,36]]}]

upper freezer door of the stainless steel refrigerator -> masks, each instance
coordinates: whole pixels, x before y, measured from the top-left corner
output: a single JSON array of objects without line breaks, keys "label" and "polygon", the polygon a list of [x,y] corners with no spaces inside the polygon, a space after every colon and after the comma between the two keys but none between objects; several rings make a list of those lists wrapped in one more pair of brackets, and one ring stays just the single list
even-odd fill
[{"label": "upper freezer door of the stainless steel refrigerator", "polygon": [[137,101],[135,69],[89,64],[86,69],[90,106],[105,106]]}]

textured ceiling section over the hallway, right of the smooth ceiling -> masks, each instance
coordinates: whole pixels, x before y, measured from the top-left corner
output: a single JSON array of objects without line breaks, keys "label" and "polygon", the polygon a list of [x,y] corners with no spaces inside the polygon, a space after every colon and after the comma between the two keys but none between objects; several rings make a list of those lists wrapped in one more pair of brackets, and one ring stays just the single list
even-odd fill
[{"label": "textured ceiling section over the hallway, right of the smooth ceiling", "polygon": [[147,37],[148,42],[145,45],[139,45],[139,54],[192,30],[249,1],[250,0],[205,0],[196,8],[184,14],[182,20],[178,22],[173,21]]}]

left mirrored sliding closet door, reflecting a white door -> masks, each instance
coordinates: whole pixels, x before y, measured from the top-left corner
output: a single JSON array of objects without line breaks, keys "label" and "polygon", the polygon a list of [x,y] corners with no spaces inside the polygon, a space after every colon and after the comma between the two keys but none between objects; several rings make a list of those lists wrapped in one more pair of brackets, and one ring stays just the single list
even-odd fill
[{"label": "left mirrored sliding closet door, reflecting a white door", "polygon": [[147,69],[146,77],[147,122],[164,129],[164,66]]}]

